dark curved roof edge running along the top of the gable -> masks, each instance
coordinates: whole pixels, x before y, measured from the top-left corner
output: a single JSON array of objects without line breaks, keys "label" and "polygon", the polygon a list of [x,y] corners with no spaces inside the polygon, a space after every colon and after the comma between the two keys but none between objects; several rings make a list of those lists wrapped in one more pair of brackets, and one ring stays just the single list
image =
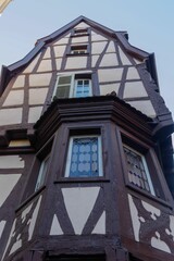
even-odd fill
[{"label": "dark curved roof edge running along the top of the gable", "polygon": [[66,24],[65,26],[61,27],[60,29],[55,30],[49,36],[46,36],[44,38],[40,38],[37,40],[34,49],[27,53],[26,57],[24,57],[22,60],[9,65],[9,66],[2,66],[1,71],[1,78],[0,78],[0,95],[3,92],[5,87],[8,86],[10,79],[20,72],[24,66],[26,66],[41,50],[42,48],[48,45],[49,42],[53,41],[54,39],[61,37],[66,32],[75,27],[80,22],[85,22],[89,26],[96,28],[97,30],[101,32],[102,34],[108,35],[109,37],[115,38],[120,45],[127,51],[127,53],[132,54],[135,58],[139,58],[141,60],[149,60],[149,70],[152,70],[154,80],[158,83],[157,78],[157,71],[156,71],[156,62],[154,62],[154,55],[151,55],[150,53],[142,51],[134,46],[132,46],[127,40],[127,32],[115,32],[112,30],[99,23],[96,23],[83,15],[75,18],[71,23]]}]

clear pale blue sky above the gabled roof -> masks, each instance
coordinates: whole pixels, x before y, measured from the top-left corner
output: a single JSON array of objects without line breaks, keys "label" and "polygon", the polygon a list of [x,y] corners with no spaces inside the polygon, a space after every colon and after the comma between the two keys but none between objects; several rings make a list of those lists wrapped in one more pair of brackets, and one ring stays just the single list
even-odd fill
[{"label": "clear pale blue sky above the gabled roof", "polygon": [[174,0],[13,0],[0,16],[0,67],[79,15],[127,30],[130,45],[154,52],[161,95],[174,116]]}]

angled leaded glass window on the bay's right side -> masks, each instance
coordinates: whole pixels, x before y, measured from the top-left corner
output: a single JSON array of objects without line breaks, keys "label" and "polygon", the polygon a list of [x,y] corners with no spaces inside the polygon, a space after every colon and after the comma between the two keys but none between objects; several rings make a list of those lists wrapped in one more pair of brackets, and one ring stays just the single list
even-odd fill
[{"label": "angled leaded glass window on the bay's right side", "polygon": [[146,159],[139,152],[124,146],[128,181],[134,186],[154,195]]}]

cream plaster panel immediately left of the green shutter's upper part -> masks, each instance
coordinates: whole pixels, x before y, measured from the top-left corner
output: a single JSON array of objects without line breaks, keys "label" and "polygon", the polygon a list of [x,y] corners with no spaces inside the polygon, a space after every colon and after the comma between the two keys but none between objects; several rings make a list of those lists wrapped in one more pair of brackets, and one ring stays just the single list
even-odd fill
[{"label": "cream plaster panel immediately left of the green shutter's upper part", "polygon": [[51,76],[52,76],[51,73],[29,75],[29,86],[30,87],[49,86]]}]

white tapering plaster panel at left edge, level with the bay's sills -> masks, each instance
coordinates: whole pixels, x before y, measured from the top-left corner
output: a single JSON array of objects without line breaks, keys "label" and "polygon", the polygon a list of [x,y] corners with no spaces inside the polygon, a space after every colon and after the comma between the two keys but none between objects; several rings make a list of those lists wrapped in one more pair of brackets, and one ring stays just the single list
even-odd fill
[{"label": "white tapering plaster panel at left edge, level with the bay's sills", "polygon": [[0,207],[4,203],[15,185],[17,184],[21,174],[4,174],[0,175]]}]

